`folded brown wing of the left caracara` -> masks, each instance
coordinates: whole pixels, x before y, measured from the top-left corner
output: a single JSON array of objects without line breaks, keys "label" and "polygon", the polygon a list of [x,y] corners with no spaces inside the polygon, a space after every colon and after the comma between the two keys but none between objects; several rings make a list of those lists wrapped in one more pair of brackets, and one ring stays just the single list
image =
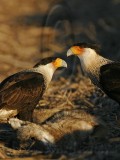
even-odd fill
[{"label": "folded brown wing of the left caracara", "polygon": [[39,101],[45,90],[43,75],[37,72],[19,72],[0,85],[0,108],[16,108]]}]

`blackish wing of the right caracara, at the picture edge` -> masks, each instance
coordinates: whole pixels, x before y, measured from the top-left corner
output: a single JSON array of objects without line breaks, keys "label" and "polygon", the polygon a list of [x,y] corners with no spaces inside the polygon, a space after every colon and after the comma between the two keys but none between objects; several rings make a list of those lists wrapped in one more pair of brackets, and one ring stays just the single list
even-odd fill
[{"label": "blackish wing of the right caracara, at the picture edge", "polygon": [[100,68],[100,84],[109,97],[120,103],[120,63],[110,63]]}]

